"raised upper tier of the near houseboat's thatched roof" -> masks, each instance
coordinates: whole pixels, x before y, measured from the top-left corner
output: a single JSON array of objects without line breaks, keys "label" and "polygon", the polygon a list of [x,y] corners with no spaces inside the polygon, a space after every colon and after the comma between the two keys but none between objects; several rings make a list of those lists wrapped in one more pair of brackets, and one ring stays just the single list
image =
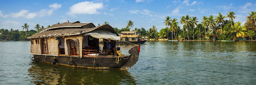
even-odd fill
[{"label": "raised upper tier of the near houseboat's thatched roof", "polygon": [[[92,28],[95,27],[92,23],[80,23],[79,21],[76,22],[64,22],[61,24],[54,24],[48,28],[44,28],[42,29],[41,32],[44,32],[46,30],[53,30],[53,29],[57,29],[57,28],[67,28],[67,27],[82,27],[82,28]],[[41,33],[40,32],[40,33]]]}]

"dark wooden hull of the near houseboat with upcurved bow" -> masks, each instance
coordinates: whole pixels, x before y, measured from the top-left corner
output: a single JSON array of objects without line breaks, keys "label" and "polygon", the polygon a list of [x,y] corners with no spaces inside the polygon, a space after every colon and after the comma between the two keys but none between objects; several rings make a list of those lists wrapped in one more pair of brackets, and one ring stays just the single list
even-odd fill
[{"label": "dark wooden hull of the near houseboat with upcurved bow", "polygon": [[[129,50],[130,56],[124,56],[119,63],[116,63],[116,56],[104,56],[104,57],[71,57],[73,64],[69,65],[70,57],[67,56],[45,56],[45,55],[34,55],[33,57],[38,58],[39,62],[53,64],[53,59],[56,59],[56,65],[71,66],[71,67],[82,67],[82,68],[95,68],[95,69],[120,69],[128,70],[131,68],[139,59],[139,52],[137,46]],[[45,60],[46,57],[46,60]],[[127,59],[124,59],[127,58]],[[36,62],[36,60],[35,60]]]}]

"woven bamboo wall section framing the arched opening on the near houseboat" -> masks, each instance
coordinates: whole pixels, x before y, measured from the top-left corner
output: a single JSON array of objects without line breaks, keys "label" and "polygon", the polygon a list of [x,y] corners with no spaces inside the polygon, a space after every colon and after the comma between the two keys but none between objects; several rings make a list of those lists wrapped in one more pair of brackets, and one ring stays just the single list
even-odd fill
[{"label": "woven bamboo wall section framing the arched opening on the near houseboat", "polygon": [[74,40],[76,42],[76,48],[77,48],[77,52],[79,53],[78,57],[82,57],[82,41],[83,41],[83,36],[82,35],[73,35],[73,36],[65,36],[65,54],[66,56],[70,56],[70,49],[69,49],[69,42],[67,42],[67,40]]}]

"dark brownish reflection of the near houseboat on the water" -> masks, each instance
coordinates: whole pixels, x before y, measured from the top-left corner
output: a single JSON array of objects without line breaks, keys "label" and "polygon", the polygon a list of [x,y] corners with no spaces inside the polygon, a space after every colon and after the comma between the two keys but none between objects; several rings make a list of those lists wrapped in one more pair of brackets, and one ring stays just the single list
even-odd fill
[{"label": "dark brownish reflection of the near houseboat on the water", "polygon": [[32,77],[30,82],[34,84],[137,84],[127,71],[74,68],[40,62],[30,64],[28,75]]}]

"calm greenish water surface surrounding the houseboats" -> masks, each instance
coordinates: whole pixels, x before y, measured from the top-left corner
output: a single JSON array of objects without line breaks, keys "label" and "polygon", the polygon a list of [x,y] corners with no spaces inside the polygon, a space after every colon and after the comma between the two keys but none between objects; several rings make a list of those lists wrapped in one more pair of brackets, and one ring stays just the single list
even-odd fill
[{"label": "calm greenish water surface surrounding the houseboats", "polygon": [[[132,46],[120,45],[122,53]],[[32,62],[30,42],[0,48],[1,85],[256,84],[256,42],[147,42],[128,71]]]}]

